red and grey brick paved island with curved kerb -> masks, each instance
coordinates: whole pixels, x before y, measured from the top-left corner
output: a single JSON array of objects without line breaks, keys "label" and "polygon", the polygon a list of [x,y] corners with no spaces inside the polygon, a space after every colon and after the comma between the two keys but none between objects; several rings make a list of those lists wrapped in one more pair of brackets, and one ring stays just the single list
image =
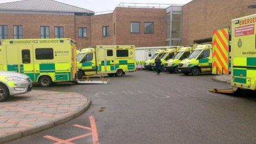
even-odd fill
[{"label": "red and grey brick paved island with curved kerb", "polygon": [[76,118],[90,106],[77,93],[33,90],[0,103],[0,143],[35,134]]}]

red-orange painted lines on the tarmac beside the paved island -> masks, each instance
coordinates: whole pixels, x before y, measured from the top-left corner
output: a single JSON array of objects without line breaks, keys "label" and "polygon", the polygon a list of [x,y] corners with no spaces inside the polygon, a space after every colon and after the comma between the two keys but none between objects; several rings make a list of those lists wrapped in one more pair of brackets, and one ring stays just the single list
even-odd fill
[{"label": "red-orange painted lines on the tarmac beside the paved island", "polygon": [[49,140],[56,141],[55,144],[73,144],[71,141],[78,140],[80,138],[92,135],[93,144],[99,144],[98,132],[97,132],[96,124],[95,124],[95,119],[94,119],[93,116],[89,116],[89,120],[90,120],[90,126],[91,127],[82,126],[82,125],[78,125],[78,124],[73,125],[75,127],[81,128],[81,129],[92,131],[92,132],[89,132],[88,134],[83,134],[83,135],[75,136],[75,137],[72,137],[72,138],[68,138],[67,140],[62,140],[60,138],[53,137],[53,136],[44,136],[44,137],[49,139]]}]

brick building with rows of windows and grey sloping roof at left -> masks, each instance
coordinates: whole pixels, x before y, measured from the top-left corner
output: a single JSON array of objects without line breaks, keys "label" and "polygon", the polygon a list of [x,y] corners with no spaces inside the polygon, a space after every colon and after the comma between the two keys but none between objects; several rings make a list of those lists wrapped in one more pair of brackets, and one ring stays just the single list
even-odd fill
[{"label": "brick building with rows of windows and grey sloping roof at left", "polygon": [[113,13],[51,0],[0,4],[0,39],[72,38],[92,45],[163,46],[166,9],[116,7]]}]

